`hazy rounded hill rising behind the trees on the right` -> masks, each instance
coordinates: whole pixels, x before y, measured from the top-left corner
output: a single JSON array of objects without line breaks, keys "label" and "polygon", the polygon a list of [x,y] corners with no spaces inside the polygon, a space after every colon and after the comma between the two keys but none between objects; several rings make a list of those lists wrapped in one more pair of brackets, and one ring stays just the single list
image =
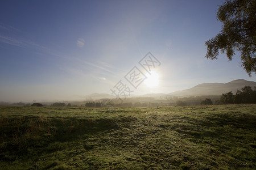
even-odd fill
[{"label": "hazy rounded hill rising behind the trees on the right", "polygon": [[245,86],[256,87],[256,82],[250,82],[243,79],[233,80],[229,83],[203,83],[187,90],[172,92],[171,96],[201,96],[201,95],[221,95],[232,91],[236,94],[237,90]]}]

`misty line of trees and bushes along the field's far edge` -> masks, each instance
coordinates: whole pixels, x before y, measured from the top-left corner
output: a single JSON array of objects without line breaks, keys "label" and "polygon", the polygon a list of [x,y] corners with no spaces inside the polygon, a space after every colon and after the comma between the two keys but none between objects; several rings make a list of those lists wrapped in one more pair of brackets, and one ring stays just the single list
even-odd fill
[{"label": "misty line of trees and bushes along the field's far edge", "polygon": [[[245,86],[241,90],[238,90],[236,94],[232,91],[222,94],[221,96],[189,96],[179,98],[177,96],[169,97],[170,99],[155,100],[150,98],[151,101],[139,101],[140,97],[135,99],[129,99],[123,103],[118,103],[118,99],[101,99],[85,101],[85,107],[166,107],[166,106],[186,106],[186,105],[217,105],[217,104],[256,104],[256,87],[254,90],[250,86]],[[143,98],[144,99],[144,98]],[[214,101],[214,102],[213,102]],[[8,103],[0,101],[0,105],[20,105],[20,106],[43,106],[40,103],[25,104],[19,103]],[[46,106],[46,105],[44,105]],[[52,107],[77,107],[77,105],[71,105],[71,103],[53,103]]]}]

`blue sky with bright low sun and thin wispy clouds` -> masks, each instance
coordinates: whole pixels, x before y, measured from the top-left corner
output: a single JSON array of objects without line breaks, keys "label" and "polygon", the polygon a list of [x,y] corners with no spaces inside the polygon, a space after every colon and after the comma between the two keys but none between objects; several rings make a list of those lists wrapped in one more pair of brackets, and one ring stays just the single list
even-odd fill
[{"label": "blue sky with bright low sun and thin wispy clouds", "polygon": [[[84,100],[112,94],[170,93],[200,83],[256,81],[239,53],[205,58],[220,32],[224,1],[0,1],[0,101]],[[125,76],[150,52],[158,86],[134,88]]]}]

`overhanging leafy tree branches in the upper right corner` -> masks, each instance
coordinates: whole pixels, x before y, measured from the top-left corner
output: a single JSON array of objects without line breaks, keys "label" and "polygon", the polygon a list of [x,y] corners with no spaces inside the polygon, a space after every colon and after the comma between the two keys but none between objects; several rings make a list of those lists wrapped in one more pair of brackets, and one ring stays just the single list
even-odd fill
[{"label": "overhanging leafy tree branches in the upper right corner", "polygon": [[217,59],[220,50],[232,60],[237,50],[243,69],[249,76],[256,73],[256,1],[228,0],[218,8],[217,19],[224,25],[218,35],[205,42],[205,57]]}]

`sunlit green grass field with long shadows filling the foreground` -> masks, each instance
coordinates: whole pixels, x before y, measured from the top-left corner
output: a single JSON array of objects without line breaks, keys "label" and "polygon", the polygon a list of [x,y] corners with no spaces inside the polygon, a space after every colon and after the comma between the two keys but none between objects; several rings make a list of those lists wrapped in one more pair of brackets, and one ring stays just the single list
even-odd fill
[{"label": "sunlit green grass field with long shadows filling the foreground", "polygon": [[0,107],[0,169],[255,169],[256,105]]}]

